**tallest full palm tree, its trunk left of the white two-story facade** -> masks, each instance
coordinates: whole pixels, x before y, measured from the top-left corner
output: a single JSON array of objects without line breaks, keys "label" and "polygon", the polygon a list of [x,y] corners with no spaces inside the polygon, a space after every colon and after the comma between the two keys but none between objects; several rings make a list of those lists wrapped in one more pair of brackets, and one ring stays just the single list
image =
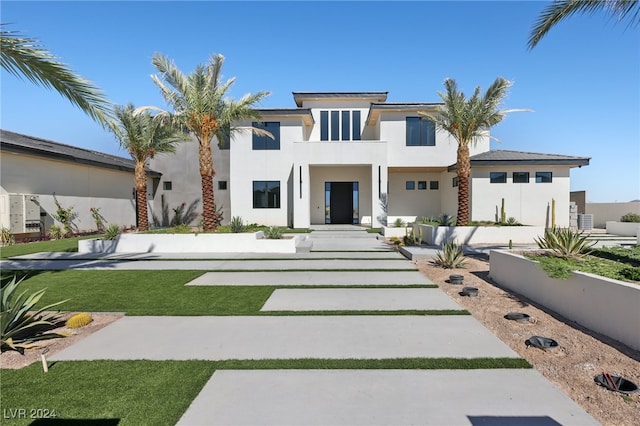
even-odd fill
[{"label": "tallest full palm tree, its trunk left of the white two-story facade", "polygon": [[[213,195],[215,170],[211,140],[214,136],[219,143],[225,138],[230,140],[233,133],[240,130],[234,127],[234,123],[239,120],[259,121],[260,114],[253,106],[269,95],[269,92],[247,94],[237,101],[226,98],[235,78],[221,81],[223,62],[222,55],[212,55],[209,63],[198,65],[192,74],[184,75],[173,62],[161,54],[155,54],[152,60],[160,75],[152,75],[151,78],[160,88],[167,103],[174,109],[173,113],[169,114],[172,122],[191,132],[199,144],[205,231],[215,231],[219,221]],[[252,130],[267,134],[259,129]]]}]

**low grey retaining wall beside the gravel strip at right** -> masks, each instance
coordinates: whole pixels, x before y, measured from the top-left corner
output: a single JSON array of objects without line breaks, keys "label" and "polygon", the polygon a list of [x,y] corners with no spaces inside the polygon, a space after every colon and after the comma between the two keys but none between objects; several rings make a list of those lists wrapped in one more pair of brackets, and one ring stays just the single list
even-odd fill
[{"label": "low grey retaining wall beside the gravel strip at right", "polygon": [[567,280],[550,278],[538,262],[504,250],[491,251],[490,274],[501,286],[640,350],[640,285],[582,272]]}]

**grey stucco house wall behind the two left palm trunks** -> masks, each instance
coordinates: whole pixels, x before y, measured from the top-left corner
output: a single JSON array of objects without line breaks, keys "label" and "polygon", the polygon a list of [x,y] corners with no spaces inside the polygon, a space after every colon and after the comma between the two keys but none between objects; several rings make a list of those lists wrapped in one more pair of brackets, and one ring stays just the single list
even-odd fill
[{"label": "grey stucco house wall behind the two left palm trunks", "polygon": [[[233,144],[234,141],[232,140]],[[230,150],[218,148],[218,142],[214,138],[211,142],[211,152],[213,154],[213,165],[216,175],[213,178],[213,194],[216,206],[222,207],[223,223],[228,223],[231,219],[230,176],[229,176],[229,153]],[[162,171],[162,179],[155,194],[150,196],[152,212],[160,218],[162,216],[162,203],[169,209],[169,220],[173,217],[174,208],[182,203],[187,206],[195,203],[196,212],[202,212],[202,181],[200,178],[200,168],[198,161],[198,142],[195,138],[190,141],[176,145],[176,152],[169,154],[158,154],[150,161],[151,170]],[[218,182],[226,181],[227,190],[219,190]],[[171,182],[171,190],[163,188],[164,182]],[[149,215],[151,219],[151,214]],[[197,225],[197,219],[192,225]],[[158,224],[159,225],[159,224]]]}]

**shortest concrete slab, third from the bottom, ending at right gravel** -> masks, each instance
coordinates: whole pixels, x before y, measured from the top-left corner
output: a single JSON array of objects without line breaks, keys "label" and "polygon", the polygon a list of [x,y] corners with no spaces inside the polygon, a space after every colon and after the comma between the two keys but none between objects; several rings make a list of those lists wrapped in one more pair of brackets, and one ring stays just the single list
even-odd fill
[{"label": "shortest concrete slab, third from the bottom, ending at right gravel", "polygon": [[278,289],[262,311],[464,309],[437,288]]}]

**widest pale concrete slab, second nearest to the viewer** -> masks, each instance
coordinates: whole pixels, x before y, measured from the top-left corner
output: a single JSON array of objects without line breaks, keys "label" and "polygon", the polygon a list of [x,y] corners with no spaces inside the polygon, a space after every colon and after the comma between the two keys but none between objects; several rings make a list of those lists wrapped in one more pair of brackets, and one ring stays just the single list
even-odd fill
[{"label": "widest pale concrete slab, second nearest to the viewer", "polygon": [[125,317],[51,360],[412,357],[519,358],[470,315],[354,315]]}]

